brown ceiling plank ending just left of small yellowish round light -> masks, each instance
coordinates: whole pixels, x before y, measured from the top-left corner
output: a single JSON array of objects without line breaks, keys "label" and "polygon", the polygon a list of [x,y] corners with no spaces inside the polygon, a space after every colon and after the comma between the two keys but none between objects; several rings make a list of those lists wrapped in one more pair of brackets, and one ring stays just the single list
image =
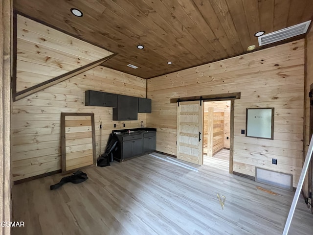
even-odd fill
[{"label": "brown ceiling plank ending just left of small yellowish round light", "polygon": [[242,53],[244,48],[240,42],[238,33],[236,31],[234,22],[228,10],[225,0],[211,0],[211,5],[218,16],[220,23],[225,31],[225,36],[232,42],[232,47],[237,54]]}]

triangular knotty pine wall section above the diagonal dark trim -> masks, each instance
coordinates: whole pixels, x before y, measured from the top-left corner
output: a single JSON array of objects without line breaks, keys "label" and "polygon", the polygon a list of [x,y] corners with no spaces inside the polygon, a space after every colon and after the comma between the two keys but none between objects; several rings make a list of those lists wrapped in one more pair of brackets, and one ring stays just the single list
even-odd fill
[{"label": "triangular knotty pine wall section above the diagonal dark trim", "polygon": [[17,92],[112,54],[17,15]]}]

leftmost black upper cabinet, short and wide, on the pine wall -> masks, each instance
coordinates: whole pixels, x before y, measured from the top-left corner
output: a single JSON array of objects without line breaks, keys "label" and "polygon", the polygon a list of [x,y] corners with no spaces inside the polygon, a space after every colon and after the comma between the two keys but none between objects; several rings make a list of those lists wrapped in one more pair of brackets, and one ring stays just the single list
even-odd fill
[{"label": "leftmost black upper cabinet, short and wide, on the pine wall", "polygon": [[117,107],[117,94],[88,90],[85,92],[85,106]]}]

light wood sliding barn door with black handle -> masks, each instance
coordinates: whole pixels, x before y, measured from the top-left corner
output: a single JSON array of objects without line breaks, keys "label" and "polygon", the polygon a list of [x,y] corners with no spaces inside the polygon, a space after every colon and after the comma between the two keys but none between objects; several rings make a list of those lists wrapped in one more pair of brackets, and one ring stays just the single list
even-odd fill
[{"label": "light wood sliding barn door with black handle", "polygon": [[177,107],[177,158],[203,164],[203,102],[179,102]]}]

